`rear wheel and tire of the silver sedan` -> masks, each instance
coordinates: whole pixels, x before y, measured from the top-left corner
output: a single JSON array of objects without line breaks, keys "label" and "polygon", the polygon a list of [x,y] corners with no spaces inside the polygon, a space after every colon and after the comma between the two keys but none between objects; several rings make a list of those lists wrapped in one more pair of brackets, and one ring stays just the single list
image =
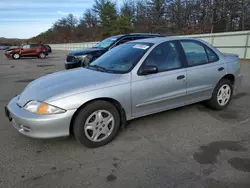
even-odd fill
[{"label": "rear wheel and tire of the silver sedan", "polygon": [[211,99],[206,101],[209,108],[222,110],[226,108],[233,96],[233,82],[228,79],[222,79],[215,87]]}]

